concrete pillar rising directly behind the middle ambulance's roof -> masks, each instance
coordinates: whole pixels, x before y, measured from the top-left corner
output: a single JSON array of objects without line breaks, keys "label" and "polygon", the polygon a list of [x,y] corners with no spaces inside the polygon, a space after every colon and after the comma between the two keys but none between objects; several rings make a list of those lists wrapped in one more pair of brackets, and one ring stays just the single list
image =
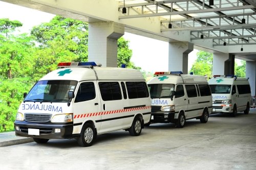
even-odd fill
[{"label": "concrete pillar rising directly behind the middle ambulance's roof", "polygon": [[188,54],[194,50],[194,44],[190,42],[169,42],[169,71],[182,71],[188,74]]}]

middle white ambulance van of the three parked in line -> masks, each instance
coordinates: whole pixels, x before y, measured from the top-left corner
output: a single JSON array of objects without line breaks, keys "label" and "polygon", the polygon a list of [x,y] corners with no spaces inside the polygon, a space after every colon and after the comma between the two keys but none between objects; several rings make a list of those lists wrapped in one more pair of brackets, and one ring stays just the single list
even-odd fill
[{"label": "middle white ambulance van of the three parked in line", "polygon": [[183,128],[187,119],[208,121],[212,99],[203,76],[183,75],[181,71],[156,72],[155,75],[147,82],[152,99],[151,123],[175,123],[176,127]]}]

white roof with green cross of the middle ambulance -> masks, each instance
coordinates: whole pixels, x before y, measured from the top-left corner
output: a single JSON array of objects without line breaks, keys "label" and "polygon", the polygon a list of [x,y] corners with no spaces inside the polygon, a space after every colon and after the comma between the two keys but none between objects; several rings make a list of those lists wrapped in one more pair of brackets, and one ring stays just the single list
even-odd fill
[{"label": "white roof with green cross of the middle ambulance", "polygon": [[204,76],[198,75],[160,75],[152,78],[147,84],[181,84],[181,83],[206,83]]}]

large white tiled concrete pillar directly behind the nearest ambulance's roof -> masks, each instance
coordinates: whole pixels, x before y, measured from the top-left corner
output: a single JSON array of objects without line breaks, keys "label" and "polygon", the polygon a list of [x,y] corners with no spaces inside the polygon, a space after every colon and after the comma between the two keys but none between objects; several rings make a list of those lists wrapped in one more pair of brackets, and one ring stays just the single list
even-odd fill
[{"label": "large white tiled concrete pillar directly behind the nearest ambulance's roof", "polygon": [[89,23],[88,61],[117,67],[117,39],[124,35],[124,25],[108,22]]}]

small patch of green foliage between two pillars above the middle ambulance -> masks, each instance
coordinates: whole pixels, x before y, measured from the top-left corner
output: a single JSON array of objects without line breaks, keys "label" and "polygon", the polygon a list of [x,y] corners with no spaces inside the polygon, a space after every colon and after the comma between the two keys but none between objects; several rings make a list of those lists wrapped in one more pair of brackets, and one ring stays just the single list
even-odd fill
[{"label": "small patch of green foliage between two pillars above the middle ambulance", "polygon": [[192,65],[192,68],[189,72],[193,72],[194,75],[206,75],[208,78],[210,78],[212,74],[212,60],[212,53],[199,51],[197,53],[197,60]]}]

